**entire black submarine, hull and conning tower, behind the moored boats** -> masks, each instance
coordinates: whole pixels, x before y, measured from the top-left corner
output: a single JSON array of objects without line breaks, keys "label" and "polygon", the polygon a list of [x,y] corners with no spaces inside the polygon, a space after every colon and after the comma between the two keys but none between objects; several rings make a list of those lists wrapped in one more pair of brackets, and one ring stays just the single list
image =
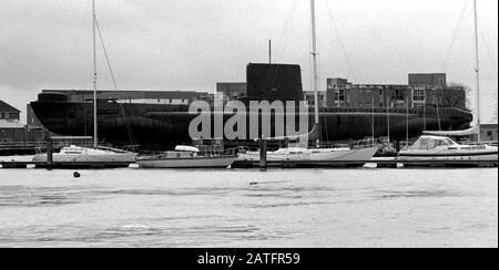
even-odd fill
[{"label": "entire black submarine, hull and conning tower, behind the moored boats", "polygon": [[[304,101],[301,66],[296,64],[246,65],[246,96],[251,101]],[[159,104],[134,102],[126,91],[98,91],[99,141],[113,146],[139,145],[140,152],[160,152],[176,145],[192,144],[189,124],[196,115],[189,112],[190,104]],[[130,91],[130,93],[136,93]],[[155,97],[154,91],[142,92]],[[75,96],[79,98],[75,98]],[[84,96],[80,98],[81,96]],[[93,91],[43,90],[38,100],[30,103],[41,124],[61,136],[93,135]],[[203,97],[213,105],[213,98]],[[150,98],[151,100],[151,98]],[[194,101],[190,101],[194,102]],[[224,113],[223,121],[231,117]],[[309,108],[310,129],[314,125]],[[389,120],[388,120],[389,118]],[[393,141],[417,137],[422,129],[466,129],[472,114],[457,107],[432,106],[424,108],[384,107],[320,107],[320,141],[348,142],[387,136]],[[213,122],[212,122],[213,123]],[[274,121],[272,122],[274,125]],[[389,125],[389,126],[388,126]],[[248,129],[248,128],[246,128]],[[254,139],[223,139],[225,146],[252,146]]]}]

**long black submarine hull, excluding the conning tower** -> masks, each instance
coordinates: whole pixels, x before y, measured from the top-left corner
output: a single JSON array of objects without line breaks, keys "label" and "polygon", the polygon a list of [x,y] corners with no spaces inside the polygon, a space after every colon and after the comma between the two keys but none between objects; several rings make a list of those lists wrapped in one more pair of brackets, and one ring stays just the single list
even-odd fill
[{"label": "long black submarine hull, excluding the conning tower", "polygon": [[[113,145],[138,144],[143,150],[165,150],[175,145],[191,144],[189,124],[197,115],[190,114],[187,106],[98,103],[99,141]],[[72,102],[32,102],[31,106],[43,126],[50,132],[64,136],[93,135],[93,106],[91,103]],[[394,141],[405,141],[407,128],[409,137],[421,134],[425,121],[427,129],[461,129],[469,127],[471,114],[454,108],[440,108],[446,116],[431,116],[427,110],[426,117],[421,110],[384,110],[361,112],[360,110],[325,108],[320,115],[322,142],[348,142],[389,135]],[[429,112],[428,112],[429,111]],[[232,114],[224,115],[224,122]],[[309,113],[312,129],[313,113]],[[389,117],[389,128],[388,128]],[[274,120],[274,117],[272,117]],[[214,121],[212,121],[213,123]],[[249,123],[249,121],[246,121]],[[274,123],[272,121],[272,125]],[[374,126],[374,129],[373,129]],[[212,131],[213,131],[212,126]],[[225,145],[253,145],[248,127],[247,139],[228,141]],[[274,133],[274,131],[273,131]]]}]

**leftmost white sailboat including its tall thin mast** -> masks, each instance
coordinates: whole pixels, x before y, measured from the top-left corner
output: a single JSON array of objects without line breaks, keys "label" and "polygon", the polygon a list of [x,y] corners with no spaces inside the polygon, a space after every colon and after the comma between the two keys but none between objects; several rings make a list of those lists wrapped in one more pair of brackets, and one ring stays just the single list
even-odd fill
[{"label": "leftmost white sailboat including its tall thin mast", "polygon": [[[99,146],[98,136],[98,102],[96,102],[96,51],[95,51],[95,0],[92,0],[92,34],[93,34],[93,147],[71,145],[62,147],[52,154],[53,167],[129,167],[135,163],[136,153]],[[47,163],[48,154],[37,154],[35,163]]]}]

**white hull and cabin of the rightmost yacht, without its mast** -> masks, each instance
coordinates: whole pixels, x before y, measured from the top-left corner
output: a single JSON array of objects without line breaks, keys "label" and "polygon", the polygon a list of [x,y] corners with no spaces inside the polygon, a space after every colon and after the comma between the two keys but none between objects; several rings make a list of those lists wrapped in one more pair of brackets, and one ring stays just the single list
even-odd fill
[{"label": "white hull and cabin of the rightmost yacht, without its mast", "polygon": [[446,136],[424,135],[408,149],[399,152],[400,160],[498,162],[498,147],[488,145],[459,145]]}]

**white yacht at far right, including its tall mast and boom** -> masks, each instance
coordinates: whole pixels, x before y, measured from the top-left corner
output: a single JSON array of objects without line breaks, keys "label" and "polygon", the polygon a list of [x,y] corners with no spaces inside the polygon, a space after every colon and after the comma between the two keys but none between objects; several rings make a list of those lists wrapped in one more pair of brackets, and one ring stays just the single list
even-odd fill
[{"label": "white yacht at far right, including its tall mast and boom", "polygon": [[[477,0],[473,0],[475,8],[475,52],[476,52],[476,98],[477,113],[476,124],[466,131],[449,131],[449,132],[431,132],[425,131],[422,136],[408,149],[403,149],[399,153],[400,160],[417,160],[417,162],[490,162],[498,163],[498,147],[480,144],[480,69],[479,69],[479,53],[478,53],[478,14]],[[449,136],[477,136],[477,145],[459,145]],[[461,163],[462,164],[462,163]]]}]

